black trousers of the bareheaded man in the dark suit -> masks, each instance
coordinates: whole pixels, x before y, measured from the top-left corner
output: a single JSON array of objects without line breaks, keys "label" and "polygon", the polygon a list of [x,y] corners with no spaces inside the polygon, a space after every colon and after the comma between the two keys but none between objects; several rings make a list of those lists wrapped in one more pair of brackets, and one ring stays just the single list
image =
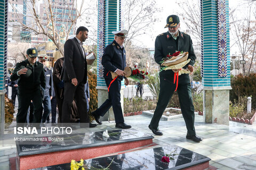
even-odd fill
[{"label": "black trousers of the bareheaded man in the dark suit", "polygon": [[76,100],[77,112],[81,123],[90,123],[90,118],[86,109],[86,99],[84,94],[84,83],[78,82],[74,86],[69,81],[64,83],[64,99],[62,104],[62,123],[70,123],[71,107],[73,99]]}]

